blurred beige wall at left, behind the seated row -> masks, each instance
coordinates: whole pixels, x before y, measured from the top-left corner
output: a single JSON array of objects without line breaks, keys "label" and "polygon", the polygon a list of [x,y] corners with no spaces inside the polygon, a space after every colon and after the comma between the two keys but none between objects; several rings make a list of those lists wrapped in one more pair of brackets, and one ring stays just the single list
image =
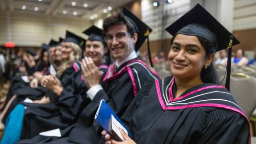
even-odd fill
[{"label": "blurred beige wall at left, behind the seated row", "polygon": [[91,24],[91,21],[77,18],[0,11],[0,45],[14,42],[17,46],[40,46],[51,38],[65,38],[66,30],[85,37],[81,32]]}]

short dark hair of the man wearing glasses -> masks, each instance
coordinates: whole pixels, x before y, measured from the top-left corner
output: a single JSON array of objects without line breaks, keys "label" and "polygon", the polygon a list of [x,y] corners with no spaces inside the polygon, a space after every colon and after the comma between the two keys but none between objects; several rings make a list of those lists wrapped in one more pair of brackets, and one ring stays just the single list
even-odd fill
[{"label": "short dark hair of the man wearing glasses", "polygon": [[126,16],[124,16],[122,13],[116,13],[108,18],[106,18],[103,21],[103,34],[106,35],[106,32],[108,31],[108,28],[113,25],[121,25],[124,24],[127,27],[127,32],[131,34],[131,36],[136,33],[136,28],[132,24],[130,20]]}]

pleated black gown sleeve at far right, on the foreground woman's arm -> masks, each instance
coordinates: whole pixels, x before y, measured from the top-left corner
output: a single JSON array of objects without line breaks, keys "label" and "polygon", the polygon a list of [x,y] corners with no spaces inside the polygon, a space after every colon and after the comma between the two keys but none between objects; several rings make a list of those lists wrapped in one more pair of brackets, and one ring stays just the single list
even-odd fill
[{"label": "pleated black gown sleeve at far right, on the foreground woman's arm", "polygon": [[249,126],[238,112],[218,108],[208,113],[198,143],[248,143]]}]

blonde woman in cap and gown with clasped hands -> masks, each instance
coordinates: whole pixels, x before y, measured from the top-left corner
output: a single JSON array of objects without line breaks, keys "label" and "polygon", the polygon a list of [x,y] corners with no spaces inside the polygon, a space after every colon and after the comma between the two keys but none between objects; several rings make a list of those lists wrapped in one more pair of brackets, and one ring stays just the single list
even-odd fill
[{"label": "blonde woman in cap and gown with clasped hands", "polygon": [[[78,65],[76,61],[81,58],[82,53],[79,45],[84,40],[76,38],[76,35],[68,31],[66,35],[66,39],[61,43],[62,48],[56,49],[56,55],[60,55],[62,61],[61,65],[57,68],[57,77],[45,76],[41,80],[41,84],[48,89],[46,95],[39,101],[34,101],[34,103],[22,102],[22,104],[15,107],[16,110],[14,109],[9,114],[6,125],[10,124],[11,127],[16,117],[20,118],[19,122],[23,122],[20,123],[21,126],[19,128],[21,129],[19,129],[19,132],[12,132],[14,137],[18,136],[21,139],[30,138],[41,131],[56,127],[66,128],[69,122],[73,121],[73,118],[69,119],[70,117],[66,117],[66,113],[61,115],[62,113],[58,106],[58,96],[63,89],[70,93],[74,92],[73,81],[78,72],[74,66]],[[18,110],[22,110],[22,112],[15,113]],[[21,130],[23,132],[20,136]],[[4,137],[13,136],[8,133],[8,127],[6,131]]]}]

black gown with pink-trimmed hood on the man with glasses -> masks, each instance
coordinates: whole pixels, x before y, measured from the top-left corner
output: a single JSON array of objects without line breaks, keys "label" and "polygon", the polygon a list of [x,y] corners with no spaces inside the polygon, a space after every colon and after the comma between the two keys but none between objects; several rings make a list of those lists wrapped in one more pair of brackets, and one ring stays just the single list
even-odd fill
[{"label": "black gown with pink-trimmed hood on the man with glasses", "polygon": [[[126,62],[118,69],[111,65],[103,79],[103,89],[86,106],[70,133],[61,130],[62,138],[37,136],[32,138],[37,143],[99,143],[101,127],[94,121],[96,110],[101,99],[104,99],[121,117],[131,104],[141,86],[148,80],[158,79],[159,76],[138,59]],[[65,129],[66,130],[66,129]],[[38,142],[38,140],[40,142]],[[29,142],[23,142],[29,143]]]}]

